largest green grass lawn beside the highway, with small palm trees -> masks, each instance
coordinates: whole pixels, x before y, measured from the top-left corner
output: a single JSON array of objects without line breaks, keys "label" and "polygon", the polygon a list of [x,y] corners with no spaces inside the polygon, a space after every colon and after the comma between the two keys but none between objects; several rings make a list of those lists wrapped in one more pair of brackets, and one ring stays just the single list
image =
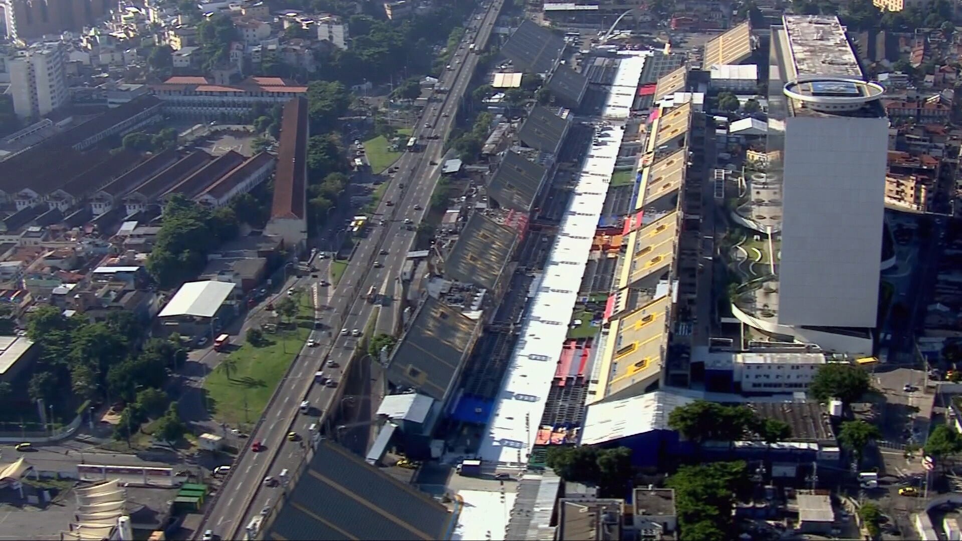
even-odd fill
[{"label": "largest green grass lawn beside the highway, with small palm trees", "polygon": [[239,339],[235,346],[240,348],[232,351],[229,360],[222,361],[207,376],[204,390],[208,409],[217,422],[249,425],[261,416],[294,354],[304,346],[314,326],[310,297],[301,296],[299,301],[300,312],[295,321],[279,325],[276,334],[265,334],[266,346],[255,348]]}]

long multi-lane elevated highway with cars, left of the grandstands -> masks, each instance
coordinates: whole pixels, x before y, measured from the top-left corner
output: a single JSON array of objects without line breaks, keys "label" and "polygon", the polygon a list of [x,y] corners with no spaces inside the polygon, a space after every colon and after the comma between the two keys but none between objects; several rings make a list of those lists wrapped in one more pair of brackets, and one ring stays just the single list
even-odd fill
[{"label": "long multi-lane elevated highway with cars, left of the grandstands", "polygon": [[[350,398],[342,397],[337,385],[316,384],[315,374],[322,370],[325,376],[342,383],[359,340],[352,331],[364,331],[377,306],[364,297],[371,287],[382,296],[394,296],[394,281],[438,181],[444,140],[477,66],[474,49],[485,49],[502,4],[503,0],[490,0],[471,15],[465,38],[451,55],[450,68],[444,70],[438,84],[448,90],[428,103],[415,126],[423,150],[408,152],[394,164],[396,171],[371,219],[372,226],[355,248],[341,282],[326,288],[308,284],[317,307],[318,324],[311,334],[316,346],[305,345],[297,354],[291,372],[250,434],[247,447],[239,454],[195,538],[207,529],[223,539],[243,538],[248,525],[269,517],[282,502],[287,479],[310,457],[314,436],[311,426],[326,437],[339,437],[339,428],[326,416],[336,414],[341,402]],[[476,47],[470,46],[475,43]],[[389,310],[387,306],[382,308]],[[303,399],[311,404],[306,414],[299,411]],[[297,434],[295,441],[289,441],[289,432]],[[255,441],[265,449],[252,451],[250,443]],[[281,476],[285,470],[286,478]],[[277,479],[277,486],[266,485],[265,477]]]}]

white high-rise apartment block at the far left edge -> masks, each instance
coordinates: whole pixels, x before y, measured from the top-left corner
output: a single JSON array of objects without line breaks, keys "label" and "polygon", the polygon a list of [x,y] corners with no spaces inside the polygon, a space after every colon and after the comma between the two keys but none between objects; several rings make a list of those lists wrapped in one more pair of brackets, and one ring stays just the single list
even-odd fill
[{"label": "white high-rise apartment block at the far left edge", "polygon": [[8,61],[16,116],[37,118],[66,105],[70,95],[65,65],[66,56],[59,42],[17,51]]}]

